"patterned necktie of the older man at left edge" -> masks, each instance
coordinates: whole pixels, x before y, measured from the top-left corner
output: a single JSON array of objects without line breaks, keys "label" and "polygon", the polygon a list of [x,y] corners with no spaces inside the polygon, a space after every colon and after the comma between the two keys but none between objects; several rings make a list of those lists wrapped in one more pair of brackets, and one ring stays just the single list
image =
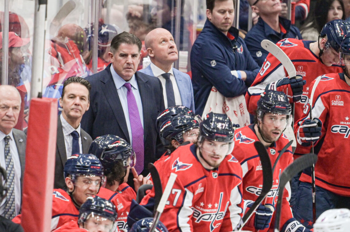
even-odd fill
[{"label": "patterned necktie of the older man at left edge", "polygon": [[13,159],[10,152],[10,136],[5,137],[5,165],[6,165],[6,185],[7,185],[7,200],[5,205],[4,217],[12,219],[16,216],[15,205],[15,171],[13,167]]}]

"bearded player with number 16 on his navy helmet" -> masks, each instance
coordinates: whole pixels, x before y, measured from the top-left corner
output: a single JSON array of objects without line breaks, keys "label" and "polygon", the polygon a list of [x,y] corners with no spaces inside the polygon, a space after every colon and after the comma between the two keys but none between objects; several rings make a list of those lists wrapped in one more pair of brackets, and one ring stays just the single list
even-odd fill
[{"label": "bearded player with number 16 on his navy helmet", "polygon": [[[248,220],[243,230],[272,231],[274,229],[274,209],[277,203],[280,175],[293,162],[292,147],[289,146],[279,160],[279,152],[289,142],[283,131],[291,123],[291,109],[288,98],[283,92],[268,90],[261,94],[257,103],[257,121],[255,124],[235,131],[235,149],[232,155],[239,161],[243,170],[243,199],[245,207],[258,198],[262,186],[261,161],[254,147],[260,141],[266,147],[271,165],[277,162],[273,173],[273,186],[266,196],[265,204],[259,205],[256,213]],[[309,231],[293,218],[288,199],[290,188],[287,184],[282,199],[281,228],[282,232]],[[247,211],[247,209],[245,210]],[[299,227],[295,227],[298,225]],[[294,229],[294,230],[292,230]]]}]

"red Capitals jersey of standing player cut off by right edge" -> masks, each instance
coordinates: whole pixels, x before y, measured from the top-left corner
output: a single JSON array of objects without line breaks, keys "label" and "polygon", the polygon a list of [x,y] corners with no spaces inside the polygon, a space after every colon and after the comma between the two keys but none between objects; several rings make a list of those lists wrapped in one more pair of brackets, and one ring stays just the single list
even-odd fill
[{"label": "red Capitals jersey of standing player cut off by right edge", "polygon": [[[331,73],[322,76],[312,99],[312,117],[322,121],[322,135],[317,141],[315,152],[316,185],[342,196],[350,196],[349,133],[350,133],[350,86],[345,82],[343,73]],[[315,81],[311,83],[310,90]],[[311,91],[309,92],[309,97]],[[300,121],[309,118],[305,114]],[[297,135],[298,122],[294,125]],[[297,138],[298,140],[299,138]],[[295,152],[307,154],[310,147],[297,144]],[[311,174],[304,171],[300,181],[311,183]]]}]

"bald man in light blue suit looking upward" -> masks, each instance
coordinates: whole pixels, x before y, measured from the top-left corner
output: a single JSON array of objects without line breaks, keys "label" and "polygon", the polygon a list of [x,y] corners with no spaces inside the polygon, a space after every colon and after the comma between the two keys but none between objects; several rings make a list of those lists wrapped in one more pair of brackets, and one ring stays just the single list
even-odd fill
[{"label": "bald man in light blue suit looking upward", "polygon": [[145,46],[151,64],[140,72],[156,76],[162,82],[165,108],[184,105],[194,112],[191,78],[173,68],[173,63],[179,59],[179,55],[172,34],[166,29],[156,28],[147,34]]}]

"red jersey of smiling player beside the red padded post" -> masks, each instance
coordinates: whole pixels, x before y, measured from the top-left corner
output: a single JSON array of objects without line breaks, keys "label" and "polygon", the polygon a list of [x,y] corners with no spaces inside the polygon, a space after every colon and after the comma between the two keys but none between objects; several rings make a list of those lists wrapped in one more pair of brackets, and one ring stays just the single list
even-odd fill
[{"label": "red jersey of smiling player beside the red padded post", "polygon": [[[69,194],[63,189],[54,189],[52,193],[51,231],[66,222],[78,222],[79,210],[75,207]],[[14,223],[21,224],[21,214],[12,219]]]}]

